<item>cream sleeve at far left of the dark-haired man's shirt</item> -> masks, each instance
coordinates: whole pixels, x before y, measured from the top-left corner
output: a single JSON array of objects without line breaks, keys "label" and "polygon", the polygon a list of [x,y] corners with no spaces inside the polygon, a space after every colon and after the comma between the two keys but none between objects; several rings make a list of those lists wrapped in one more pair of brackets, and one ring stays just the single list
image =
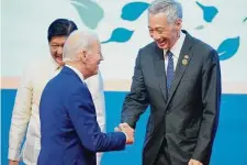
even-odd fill
[{"label": "cream sleeve at far left of the dark-haired man's shirt", "polygon": [[8,158],[18,161],[32,109],[32,69],[26,69],[22,77],[15,96],[9,132],[9,155]]}]

